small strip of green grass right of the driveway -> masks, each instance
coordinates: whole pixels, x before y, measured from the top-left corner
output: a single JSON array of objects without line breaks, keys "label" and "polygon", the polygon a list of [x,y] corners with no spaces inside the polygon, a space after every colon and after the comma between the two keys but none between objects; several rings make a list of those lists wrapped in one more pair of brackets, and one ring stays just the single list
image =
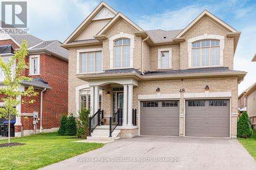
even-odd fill
[{"label": "small strip of green grass right of the driveway", "polygon": [[256,160],[256,130],[253,130],[253,135],[251,138],[238,138],[238,141],[244,146],[249,154],[251,154],[254,160]]}]

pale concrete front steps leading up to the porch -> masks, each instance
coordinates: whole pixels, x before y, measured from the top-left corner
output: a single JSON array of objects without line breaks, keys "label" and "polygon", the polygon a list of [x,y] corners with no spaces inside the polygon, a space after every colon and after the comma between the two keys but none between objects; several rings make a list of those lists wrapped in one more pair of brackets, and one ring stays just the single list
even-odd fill
[{"label": "pale concrete front steps leading up to the porch", "polygon": [[93,133],[91,133],[91,136],[87,136],[88,140],[117,140],[120,138],[120,132],[121,130],[115,129],[112,132],[112,137],[109,137],[110,130],[109,125],[103,125],[103,126],[97,126]]}]

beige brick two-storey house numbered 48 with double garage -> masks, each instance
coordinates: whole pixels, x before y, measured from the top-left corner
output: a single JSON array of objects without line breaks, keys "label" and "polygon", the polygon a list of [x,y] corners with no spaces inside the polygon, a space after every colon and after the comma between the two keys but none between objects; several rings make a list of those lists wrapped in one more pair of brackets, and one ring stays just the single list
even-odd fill
[{"label": "beige brick two-storey house numbered 48 with double garage", "polygon": [[69,112],[91,109],[89,139],[237,137],[239,37],[207,10],[181,30],[147,31],[101,2],[61,45]]}]

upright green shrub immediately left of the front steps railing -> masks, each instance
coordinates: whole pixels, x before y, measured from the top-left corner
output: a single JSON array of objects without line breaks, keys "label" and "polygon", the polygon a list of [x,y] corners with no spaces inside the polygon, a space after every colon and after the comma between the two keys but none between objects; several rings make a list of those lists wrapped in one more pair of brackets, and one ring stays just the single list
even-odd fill
[{"label": "upright green shrub immediately left of the front steps railing", "polygon": [[79,119],[77,120],[77,136],[86,139],[89,133],[89,114],[90,109],[82,108],[79,111]]}]

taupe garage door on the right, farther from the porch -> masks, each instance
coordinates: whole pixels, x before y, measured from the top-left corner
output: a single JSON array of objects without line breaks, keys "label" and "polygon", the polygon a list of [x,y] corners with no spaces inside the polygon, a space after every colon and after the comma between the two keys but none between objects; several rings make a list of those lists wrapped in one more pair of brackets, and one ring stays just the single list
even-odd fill
[{"label": "taupe garage door on the right, farther from the porch", "polygon": [[229,100],[186,101],[185,136],[229,137]]}]

